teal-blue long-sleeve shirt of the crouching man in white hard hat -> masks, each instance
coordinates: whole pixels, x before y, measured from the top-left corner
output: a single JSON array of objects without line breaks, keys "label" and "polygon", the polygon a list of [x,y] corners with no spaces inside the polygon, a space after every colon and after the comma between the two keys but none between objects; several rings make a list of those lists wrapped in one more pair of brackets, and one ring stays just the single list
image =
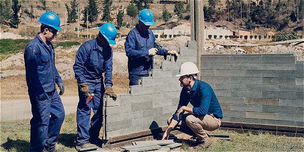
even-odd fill
[{"label": "teal-blue long-sleeve shirt of the crouching man in white hard hat", "polygon": [[[213,89],[203,81],[196,80],[190,91],[186,87],[182,88],[177,110],[182,106],[187,106],[189,102],[193,105],[193,112],[196,117],[213,114],[216,118],[223,118],[221,107]],[[173,114],[173,119],[179,122],[183,119],[183,113],[177,119],[176,111]]]}]

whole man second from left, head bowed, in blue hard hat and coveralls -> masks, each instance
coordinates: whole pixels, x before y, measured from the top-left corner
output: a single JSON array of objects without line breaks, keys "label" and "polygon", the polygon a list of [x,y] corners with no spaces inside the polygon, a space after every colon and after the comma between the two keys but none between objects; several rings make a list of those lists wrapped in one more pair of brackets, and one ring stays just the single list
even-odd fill
[{"label": "whole man second from left, head bowed, in blue hard hat and coveralls", "polygon": [[[96,39],[82,44],[77,51],[73,70],[78,83],[79,103],[77,106],[77,140],[78,151],[97,148],[102,140],[99,132],[102,124],[103,95],[116,98],[112,86],[112,58],[110,45],[115,45],[117,30],[111,23],[99,27]],[[104,82],[103,76],[104,73]],[[104,87],[105,84],[105,87]],[[93,93],[91,102],[87,98]],[[94,115],[90,122],[91,108]]]}]

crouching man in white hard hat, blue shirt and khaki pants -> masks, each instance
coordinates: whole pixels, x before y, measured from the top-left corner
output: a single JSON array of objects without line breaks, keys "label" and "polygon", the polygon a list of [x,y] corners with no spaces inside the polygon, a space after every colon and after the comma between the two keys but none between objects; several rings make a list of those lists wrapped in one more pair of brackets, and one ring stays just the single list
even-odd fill
[{"label": "crouching man in white hard hat, blue shirt and khaki pants", "polygon": [[[197,136],[196,148],[208,147],[211,144],[206,130],[218,129],[223,114],[211,86],[197,80],[198,72],[193,62],[185,62],[181,65],[179,74],[176,75],[182,87],[179,103],[173,116],[168,118],[169,126],[163,135],[163,140],[168,139],[170,131],[176,127]],[[189,102],[193,108],[187,106]]]}]

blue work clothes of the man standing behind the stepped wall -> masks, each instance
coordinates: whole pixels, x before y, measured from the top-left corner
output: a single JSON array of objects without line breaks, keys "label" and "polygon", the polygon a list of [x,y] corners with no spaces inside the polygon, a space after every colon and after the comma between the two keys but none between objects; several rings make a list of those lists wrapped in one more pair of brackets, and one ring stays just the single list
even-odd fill
[{"label": "blue work clothes of the man standing behind the stepped wall", "polygon": [[155,40],[155,35],[150,29],[143,33],[136,25],[130,30],[125,42],[130,86],[138,85],[138,80],[141,77],[148,77],[148,71],[153,69],[154,59],[149,56],[149,49],[157,48],[158,55],[167,55],[168,50],[156,46]]}]

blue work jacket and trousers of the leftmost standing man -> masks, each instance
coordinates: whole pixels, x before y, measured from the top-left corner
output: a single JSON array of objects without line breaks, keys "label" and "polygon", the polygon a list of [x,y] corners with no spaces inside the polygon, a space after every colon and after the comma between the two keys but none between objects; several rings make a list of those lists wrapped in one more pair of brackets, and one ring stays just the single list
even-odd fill
[{"label": "blue work jacket and trousers of the leftmost standing man", "polygon": [[[30,151],[42,151],[55,146],[64,120],[64,108],[55,86],[62,81],[55,67],[52,43],[47,41],[45,44],[37,34],[24,50],[24,63],[33,115],[30,120]],[[46,93],[49,99],[38,98],[42,93]]]}]

